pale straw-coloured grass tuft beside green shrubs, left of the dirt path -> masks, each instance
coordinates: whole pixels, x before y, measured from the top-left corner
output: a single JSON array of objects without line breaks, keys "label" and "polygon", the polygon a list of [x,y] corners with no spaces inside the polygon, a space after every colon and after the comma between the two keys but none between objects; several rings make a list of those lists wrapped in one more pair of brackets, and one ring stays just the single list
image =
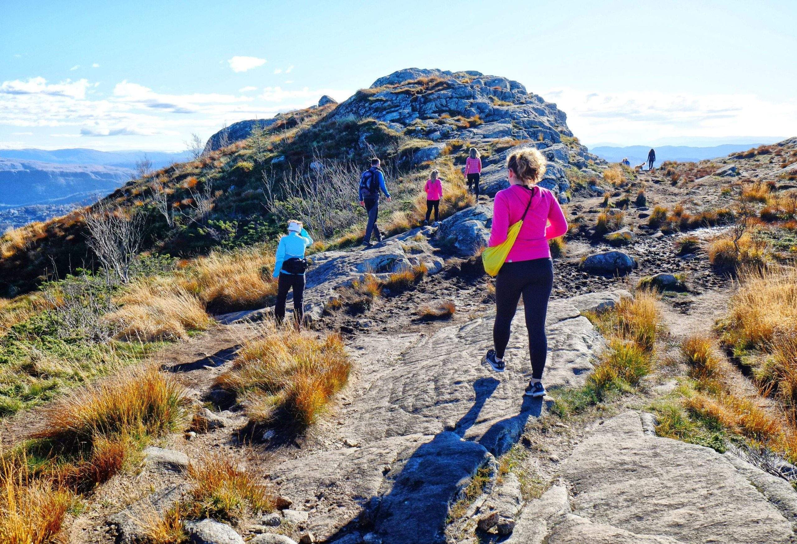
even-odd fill
[{"label": "pale straw-coloured grass tuft beside green shrubs, left of the dirt path", "polygon": [[213,323],[197,296],[171,279],[133,284],[116,302],[122,307],[104,320],[124,339],[186,339],[187,331],[204,331]]}]

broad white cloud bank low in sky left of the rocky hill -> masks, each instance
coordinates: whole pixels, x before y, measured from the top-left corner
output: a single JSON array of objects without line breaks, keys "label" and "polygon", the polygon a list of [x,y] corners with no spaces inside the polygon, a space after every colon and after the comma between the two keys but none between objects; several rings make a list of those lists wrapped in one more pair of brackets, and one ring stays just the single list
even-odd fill
[{"label": "broad white cloud bank low in sky left of the rocky hill", "polygon": [[[92,138],[92,147],[125,149],[159,147],[181,149],[191,132],[217,131],[226,120],[268,118],[278,112],[316,104],[324,94],[342,98],[351,92],[340,89],[300,91],[257,88],[237,93],[165,94],[143,84],[123,80],[108,96],[92,92],[94,82],[65,80],[50,83],[44,78],[0,80],[0,129],[26,131],[31,127],[53,127],[47,138]],[[33,131],[33,135],[41,133]],[[28,136],[29,138],[29,136]],[[118,143],[117,143],[118,142]],[[30,145],[30,142],[28,143]],[[53,142],[52,145],[58,144]]]}]

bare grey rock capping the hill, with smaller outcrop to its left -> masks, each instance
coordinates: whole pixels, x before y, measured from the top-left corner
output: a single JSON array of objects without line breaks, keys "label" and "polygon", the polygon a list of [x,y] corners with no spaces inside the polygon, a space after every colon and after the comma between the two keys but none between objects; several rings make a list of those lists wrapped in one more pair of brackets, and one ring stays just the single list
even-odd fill
[{"label": "bare grey rock capping the hill, with smaller outcrop to its left", "polygon": [[[318,106],[309,109],[328,104],[335,103],[324,96]],[[205,149],[218,149],[222,140],[233,143],[249,137],[256,123],[270,127],[283,119],[281,114],[273,119],[234,123],[212,135]],[[527,92],[515,80],[473,70],[398,70],[355,92],[320,122],[345,119],[376,119],[399,135],[419,142],[429,140],[414,151],[410,160],[415,164],[437,159],[452,144],[516,143],[508,149],[503,145],[505,151],[483,161],[486,168],[482,185],[490,196],[505,188],[503,164],[516,147],[533,146],[544,152],[549,165],[542,185],[559,194],[560,202],[569,200],[568,167],[587,170],[591,176],[598,174],[589,170],[591,165],[606,164],[578,142],[567,127],[567,115],[556,104]]]}]

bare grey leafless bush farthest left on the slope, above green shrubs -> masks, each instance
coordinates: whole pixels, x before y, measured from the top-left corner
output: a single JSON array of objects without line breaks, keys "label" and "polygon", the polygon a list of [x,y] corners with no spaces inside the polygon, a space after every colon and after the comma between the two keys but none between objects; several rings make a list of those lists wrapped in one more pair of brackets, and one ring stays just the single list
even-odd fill
[{"label": "bare grey leafless bush farthest left on the slope, above green shrubs", "polygon": [[116,276],[127,284],[131,264],[143,241],[143,214],[128,213],[100,201],[84,218],[88,228],[88,247],[96,253],[110,276]]}]

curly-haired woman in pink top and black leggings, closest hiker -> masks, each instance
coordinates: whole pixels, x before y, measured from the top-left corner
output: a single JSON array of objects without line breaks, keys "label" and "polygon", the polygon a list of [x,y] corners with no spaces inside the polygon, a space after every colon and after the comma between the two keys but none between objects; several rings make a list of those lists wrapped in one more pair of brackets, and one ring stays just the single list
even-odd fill
[{"label": "curly-haired woman in pink top and black leggings, closest hiker", "polygon": [[[567,232],[567,220],[551,191],[536,185],[545,174],[545,158],[540,151],[516,151],[509,155],[506,166],[509,187],[496,194],[488,245],[495,247],[508,242],[511,249],[496,277],[495,349],[487,352],[486,360],[496,372],[504,371],[512,318],[523,295],[532,359],[532,378],[524,394],[542,397],[545,388],[541,379],[548,350],[545,314],[553,287],[553,261],[548,240]],[[511,238],[508,240],[510,225],[518,221],[523,223],[512,243]],[[550,225],[546,226],[548,222]]]}]

